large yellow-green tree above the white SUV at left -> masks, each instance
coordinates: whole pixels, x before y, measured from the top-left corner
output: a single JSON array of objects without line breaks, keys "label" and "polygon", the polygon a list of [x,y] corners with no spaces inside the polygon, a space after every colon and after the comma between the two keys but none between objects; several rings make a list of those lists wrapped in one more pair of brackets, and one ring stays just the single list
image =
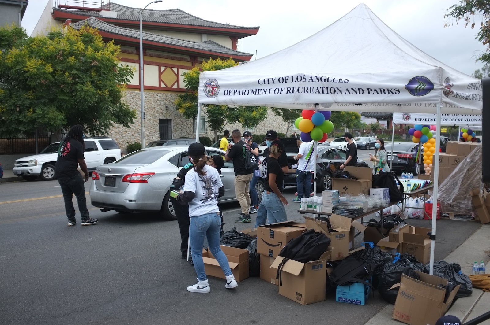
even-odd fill
[{"label": "large yellow-green tree above the white SUV at left", "polygon": [[0,28],[0,46],[0,136],[74,124],[98,135],[133,123],[136,113],[122,101],[133,70],[96,29],[28,37],[23,28]]}]

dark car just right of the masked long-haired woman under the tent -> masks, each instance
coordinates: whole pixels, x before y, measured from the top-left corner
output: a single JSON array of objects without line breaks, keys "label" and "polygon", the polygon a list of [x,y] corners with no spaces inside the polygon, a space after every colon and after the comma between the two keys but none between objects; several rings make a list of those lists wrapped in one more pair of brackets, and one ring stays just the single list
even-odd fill
[{"label": "dark car just right of the masked long-haired woman under the tent", "polygon": [[[388,165],[392,158],[392,144],[385,145],[388,152]],[[394,142],[393,143],[393,164],[390,169],[395,173],[420,173],[420,164],[416,162],[418,143],[413,142]]]}]

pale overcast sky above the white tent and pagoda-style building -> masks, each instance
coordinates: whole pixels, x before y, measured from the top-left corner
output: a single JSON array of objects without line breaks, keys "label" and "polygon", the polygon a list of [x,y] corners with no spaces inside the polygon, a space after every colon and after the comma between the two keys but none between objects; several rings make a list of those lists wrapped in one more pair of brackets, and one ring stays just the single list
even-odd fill
[{"label": "pale overcast sky above the white tent and pagoda-style building", "polygon": [[[30,35],[48,1],[29,0],[23,27]],[[70,0],[68,0],[70,1]],[[97,2],[100,0],[90,0]],[[106,0],[103,0],[104,2]],[[66,0],[58,0],[65,4]],[[145,0],[115,0],[131,7],[146,5]],[[239,26],[260,26],[257,35],[239,40],[238,49],[257,53],[257,58],[291,46],[334,23],[359,3],[365,3],[373,13],[396,33],[446,65],[471,75],[483,64],[475,62],[486,46],[475,40],[478,30],[444,19],[447,9],[458,0],[164,0],[152,3],[151,9],[181,9],[199,18]],[[475,18],[477,26],[480,17]],[[450,28],[445,23],[454,23]],[[319,48],[328,51],[328,47]]]}]

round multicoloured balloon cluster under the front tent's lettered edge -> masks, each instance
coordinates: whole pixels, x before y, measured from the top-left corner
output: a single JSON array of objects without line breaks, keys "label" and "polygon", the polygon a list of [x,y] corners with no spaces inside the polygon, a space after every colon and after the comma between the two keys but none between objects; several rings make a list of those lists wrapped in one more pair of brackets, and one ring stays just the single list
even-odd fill
[{"label": "round multicoloured balloon cluster under the front tent's lettered edge", "polygon": [[303,110],[302,117],[296,118],[294,125],[301,131],[301,141],[310,142],[315,140],[325,142],[328,138],[327,133],[334,130],[334,124],[328,119],[332,115],[330,111]]}]

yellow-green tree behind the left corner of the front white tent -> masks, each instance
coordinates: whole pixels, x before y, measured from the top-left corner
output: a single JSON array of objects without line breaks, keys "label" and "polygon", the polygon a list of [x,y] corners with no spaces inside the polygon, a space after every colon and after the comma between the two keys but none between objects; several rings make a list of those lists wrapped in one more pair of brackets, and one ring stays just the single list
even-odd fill
[{"label": "yellow-green tree behind the left corner of the front white tent", "polygon": [[[201,64],[201,67],[194,67],[188,72],[183,73],[187,93],[177,96],[175,105],[185,118],[197,116],[197,92],[199,89],[199,74],[201,71],[216,71],[237,66],[238,62],[232,58],[227,60],[209,59]],[[257,126],[266,116],[267,107],[261,106],[227,106],[227,105],[202,105],[202,113],[207,116],[209,128],[213,130],[215,141],[218,141],[218,134],[222,133],[227,123],[242,124],[244,128]]]}]

